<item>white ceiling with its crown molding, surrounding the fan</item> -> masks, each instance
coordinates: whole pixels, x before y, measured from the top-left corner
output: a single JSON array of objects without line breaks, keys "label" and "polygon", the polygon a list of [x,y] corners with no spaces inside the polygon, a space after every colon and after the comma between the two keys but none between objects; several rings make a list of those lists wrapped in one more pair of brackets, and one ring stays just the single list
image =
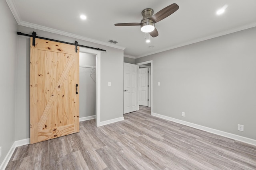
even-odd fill
[{"label": "white ceiling with its crown molding, surrounding the fan", "polygon": [[[88,41],[126,47],[127,57],[143,57],[198,41],[256,26],[256,0],[6,0],[19,25],[77,35]],[[146,43],[140,26],[116,27],[115,23],[140,22],[141,11],[154,14],[176,3],[171,16],[156,23],[158,37]],[[228,5],[226,12],[216,10]],[[80,14],[87,16],[80,19]],[[40,36],[40,35],[38,35]],[[148,38],[148,34],[146,35]],[[49,37],[50,38],[50,37]],[[79,42],[78,42],[79,43]],[[154,46],[153,49],[149,46]],[[115,47],[115,45],[114,45]]]}]

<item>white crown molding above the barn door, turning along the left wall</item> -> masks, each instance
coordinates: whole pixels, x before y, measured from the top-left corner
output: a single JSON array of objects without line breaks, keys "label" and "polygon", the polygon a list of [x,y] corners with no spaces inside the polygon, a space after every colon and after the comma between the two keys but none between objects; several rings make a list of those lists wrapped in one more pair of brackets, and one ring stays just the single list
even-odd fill
[{"label": "white crown molding above the barn door, turning along the left wall", "polygon": [[8,4],[8,6],[9,6],[15,20],[17,21],[18,25],[21,25],[21,26],[24,26],[24,27],[30,27],[30,28],[34,28],[34,29],[39,29],[39,30],[42,30],[42,31],[47,31],[47,32],[55,33],[55,34],[59,34],[59,35],[64,35],[64,36],[72,37],[72,38],[76,38],[76,39],[81,39],[81,40],[88,41],[88,42],[91,42],[91,43],[105,45],[105,46],[113,47],[113,48],[120,49],[120,50],[126,49],[126,47],[121,47],[121,46],[106,43],[106,42],[103,42],[103,41],[98,41],[96,39],[91,39],[91,38],[87,38],[87,37],[84,37],[84,36],[68,33],[68,32],[65,32],[65,31],[60,31],[58,29],[53,29],[53,28],[50,28],[50,27],[45,27],[45,26],[42,26],[42,25],[37,25],[37,24],[34,24],[34,23],[29,23],[29,22],[26,22],[26,21],[22,21],[13,0],[6,0],[6,3]]}]

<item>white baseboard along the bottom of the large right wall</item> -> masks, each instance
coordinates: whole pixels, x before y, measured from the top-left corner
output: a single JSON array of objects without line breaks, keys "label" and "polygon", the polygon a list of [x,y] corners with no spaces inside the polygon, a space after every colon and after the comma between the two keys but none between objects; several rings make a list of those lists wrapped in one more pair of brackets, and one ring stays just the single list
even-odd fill
[{"label": "white baseboard along the bottom of the large right wall", "polygon": [[152,113],[151,115],[156,116],[156,117],[160,117],[162,119],[170,120],[170,121],[173,121],[173,122],[176,122],[176,123],[180,123],[182,125],[186,125],[186,126],[189,126],[189,127],[200,129],[202,131],[214,133],[216,135],[220,135],[220,136],[223,136],[223,137],[234,139],[236,141],[241,141],[241,142],[248,143],[248,144],[256,146],[256,140],[254,140],[254,139],[250,139],[250,138],[247,138],[247,137],[242,137],[242,136],[235,135],[235,134],[228,133],[228,132],[224,132],[224,131],[219,131],[219,130],[216,130],[216,129],[212,129],[212,128],[209,128],[209,127],[197,125],[197,124],[190,123],[190,122],[187,122],[187,121],[175,119],[175,118],[168,117],[168,116],[165,116],[165,115],[160,115],[160,114],[157,114],[157,113]]}]

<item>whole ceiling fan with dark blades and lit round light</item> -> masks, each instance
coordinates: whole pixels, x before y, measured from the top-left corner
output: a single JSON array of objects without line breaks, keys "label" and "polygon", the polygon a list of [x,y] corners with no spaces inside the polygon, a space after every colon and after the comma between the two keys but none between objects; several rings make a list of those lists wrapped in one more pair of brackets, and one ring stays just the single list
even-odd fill
[{"label": "whole ceiling fan with dark blades and lit round light", "polygon": [[116,23],[115,26],[139,26],[140,25],[140,29],[142,32],[150,33],[152,37],[157,37],[158,31],[155,28],[155,23],[170,16],[178,9],[179,9],[179,6],[174,3],[165,7],[164,9],[160,10],[159,12],[153,15],[154,10],[152,10],[151,8],[146,8],[141,12],[143,18],[140,22]]}]

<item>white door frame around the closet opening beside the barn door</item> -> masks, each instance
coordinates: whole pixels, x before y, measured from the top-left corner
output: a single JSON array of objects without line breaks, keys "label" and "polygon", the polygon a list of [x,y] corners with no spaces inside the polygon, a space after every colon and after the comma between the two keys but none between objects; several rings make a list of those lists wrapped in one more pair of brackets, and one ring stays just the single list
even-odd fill
[{"label": "white door frame around the closet opening beside the barn door", "polygon": [[102,51],[80,47],[80,53],[89,53],[96,56],[96,113],[95,123],[100,126],[100,55]]}]

